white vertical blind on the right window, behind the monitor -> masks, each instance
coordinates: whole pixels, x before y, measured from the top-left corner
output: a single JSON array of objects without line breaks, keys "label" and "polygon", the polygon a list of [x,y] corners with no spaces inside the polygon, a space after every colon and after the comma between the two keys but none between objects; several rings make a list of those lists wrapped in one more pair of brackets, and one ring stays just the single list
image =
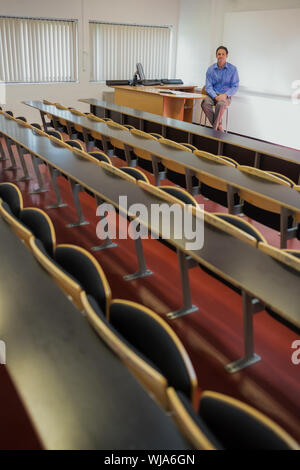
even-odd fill
[{"label": "white vertical blind on the right window, behind the monitor", "polygon": [[90,22],[89,33],[91,80],[131,79],[137,62],[146,78],[169,76],[170,27]]}]

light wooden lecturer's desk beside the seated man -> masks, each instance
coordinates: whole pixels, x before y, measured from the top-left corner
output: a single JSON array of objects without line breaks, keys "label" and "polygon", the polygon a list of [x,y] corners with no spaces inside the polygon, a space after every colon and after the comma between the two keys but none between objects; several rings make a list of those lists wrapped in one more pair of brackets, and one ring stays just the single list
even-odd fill
[{"label": "light wooden lecturer's desk beside the seated man", "polygon": [[[114,103],[120,106],[192,122],[194,100],[205,95],[194,93],[196,85],[114,86]],[[161,90],[166,90],[163,93]]]}]

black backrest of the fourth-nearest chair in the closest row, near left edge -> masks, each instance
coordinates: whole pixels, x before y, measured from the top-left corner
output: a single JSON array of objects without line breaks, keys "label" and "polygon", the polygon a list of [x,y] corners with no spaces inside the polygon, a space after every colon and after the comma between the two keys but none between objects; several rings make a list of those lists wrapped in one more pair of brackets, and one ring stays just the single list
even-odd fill
[{"label": "black backrest of the fourth-nearest chair in the closest row, near left edge", "polygon": [[35,209],[25,209],[20,213],[20,220],[43,243],[47,253],[52,256],[54,240],[52,238],[51,227],[45,215]]}]

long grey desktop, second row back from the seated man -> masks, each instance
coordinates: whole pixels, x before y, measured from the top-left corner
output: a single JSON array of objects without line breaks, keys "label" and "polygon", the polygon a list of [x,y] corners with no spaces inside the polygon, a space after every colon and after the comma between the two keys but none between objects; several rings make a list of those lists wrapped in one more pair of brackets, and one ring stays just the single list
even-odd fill
[{"label": "long grey desktop, second row back from the seated man", "polygon": [[27,105],[32,106],[41,113],[50,113],[54,117],[63,118],[66,121],[78,124],[87,131],[96,131],[104,138],[115,138],[124,142],[129,147],[137,147],[150,152],[157,158],[164,158],[184,166],[190,171],[212,175],[216,180],[223,181],[228,185],[228,189],[237,191],[238,189],[247,189],[253,194],[259,194],[266,200],[277,201],[283,208],[292,212],[300,212],[300,193],[287,186],[278,185],[270,181],[262,181],[253,175],[245,174],[237,168],[231,168],[215,164],[210,161],[204,161],[188,151],[182,151],[167,147],[159,141],[147,140],[132,135],[130,132],[113,129],[105,123],[95,122],[87,117],[78,116],[69,110],[60,110],[52,105],[45,105],[40,101],[29,101]]}]

